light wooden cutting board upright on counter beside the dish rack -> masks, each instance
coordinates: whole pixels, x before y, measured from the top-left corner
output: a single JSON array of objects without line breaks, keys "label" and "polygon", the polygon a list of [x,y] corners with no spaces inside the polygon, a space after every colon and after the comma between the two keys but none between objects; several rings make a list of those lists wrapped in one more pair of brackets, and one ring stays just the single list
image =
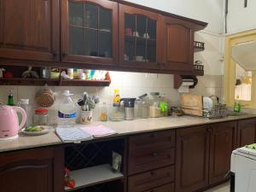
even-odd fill
[{"label": "light wooden cutting board upright on counter beside the dish rack", "polygon": [[203,116],[203,96],[183,94],[180,96],[180,105],[185,114]]}]

